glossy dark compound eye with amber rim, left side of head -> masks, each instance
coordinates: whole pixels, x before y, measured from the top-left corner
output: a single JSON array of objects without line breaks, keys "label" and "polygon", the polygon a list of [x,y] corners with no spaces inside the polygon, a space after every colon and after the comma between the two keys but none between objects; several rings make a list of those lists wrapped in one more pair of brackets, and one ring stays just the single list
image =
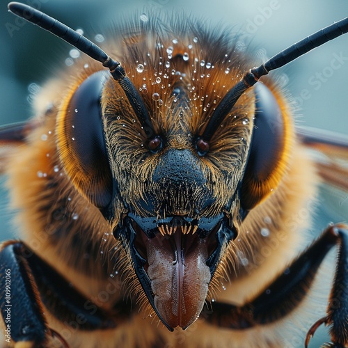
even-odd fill
[{"label": "glossy dark compound eye with amber rim, left side of head", "polygon": [[95,72],[74,90],[58,116],[58,151],[79,193],[98,208],[111,202],[112,177],[100,99],[107,75]]}]

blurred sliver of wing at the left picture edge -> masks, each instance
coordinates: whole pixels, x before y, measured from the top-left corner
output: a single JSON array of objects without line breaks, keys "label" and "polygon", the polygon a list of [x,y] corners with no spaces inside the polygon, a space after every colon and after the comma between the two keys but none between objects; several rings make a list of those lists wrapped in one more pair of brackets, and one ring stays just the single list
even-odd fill
[{"label": "blurred sliver of wing at the left picture edge", "polygon": [[33,120],[18,122],[13,125],[0,127],[0,174],[6,166],[12,150],[24,143],[26,136],[38,126]]}]

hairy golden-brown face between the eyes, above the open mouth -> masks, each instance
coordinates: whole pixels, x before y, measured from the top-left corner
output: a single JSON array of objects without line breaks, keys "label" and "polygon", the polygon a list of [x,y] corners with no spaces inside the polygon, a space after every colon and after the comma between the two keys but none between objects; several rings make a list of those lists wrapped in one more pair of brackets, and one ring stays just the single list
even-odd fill
[{"label": "hairy golden-brown face between the eyes, above the open mouth", "polygon": [[[200,156],[196,140],[204,120],[214,110],[219,95],[223,95],[223,88],[216,87],[216,93],[209,90],[209,70],[200,65],[205,56],[198,59],[196,54],[204,44],[196,44],[196,52],[195,49],[183,52],[189,44],[178,43],[172,58],[166,53],[170,42],[159,45],[163,47],[150,53],[154,59],[132,54],[133,71],[128,72],[134,76],[132,81],[151,110],[153,139],[148,141],[143,136],[134,112],[129,112],[129,102],[120,98],[120,86],[112,82],[105,89],[103,108],[108,129],[106,139],[113,149],[110,155],[113,176],[127,178],[118,183],[120,196],[134,214],[159,219],[173,215],[214,216],[222,209],[228,211],[229,199],[220,195],[217,200],[216,189],[235,191],[236,178],[243,171],[245,145],[250,142],[248,119],[253,103],[230,116],[234,125],[232,130],[227,130],[231,132],[225,136],[228,140],[222,140],[227,134],[219,134],[209,144],[209,155]],[[149,49],[144,51],[148,53]],[[131,55],[127,62],[131,62]],[[136,70],[139,65],[145,66],[142,72]],[[221,77],[225,68],[219,68]],[[239,152],[240,156],[229,156],[231,151]]]}]

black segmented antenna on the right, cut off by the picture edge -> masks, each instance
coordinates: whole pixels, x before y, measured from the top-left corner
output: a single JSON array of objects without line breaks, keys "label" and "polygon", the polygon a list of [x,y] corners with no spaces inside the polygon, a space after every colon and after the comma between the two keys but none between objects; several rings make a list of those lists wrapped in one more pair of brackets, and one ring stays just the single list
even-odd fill
[{"label": "black segmented antenna on the right, cut off by the picture edge", "polygon": [[209,141],[216,129],[221,125],[226,118],[230,110],[239,99],[239,97],[251,86],[256,84],[260,77],[267,75],[271,70],[278,69],[283,65],[294,61],[299,56],[310,52],[312,49],[323,45],[325,42],[338,38],[338,36],[348,32],[348,17],[341,19],[339,22],[335,22],[326,28],[321,29],[312,35],[304,38],[303,40],[296,42],[294,45],[284,49],[266,63],[260,65],[258,68],[253,68],[246,72],[241,81],[233,86],[225,97],[219,102],[214,113],[212,113],[207,127],[200,136],[199,139]]}]

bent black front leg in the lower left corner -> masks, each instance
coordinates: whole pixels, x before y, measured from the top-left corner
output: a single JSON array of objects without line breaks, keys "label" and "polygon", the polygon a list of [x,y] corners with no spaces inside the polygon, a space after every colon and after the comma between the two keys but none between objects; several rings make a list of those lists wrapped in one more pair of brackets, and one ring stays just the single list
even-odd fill
[{"label": "bent black front leg in the lower left corner", "polygon": [[[33,342],[33,347],[47,344],[47,333],[61,340],[63,338],[50,329],[44,315],[45,308],[71,331],[111,329],[131,310],[123,301],[116,303],[113,310],[98,307],[78,292],[61,274],[38,258],[24,243],[8,242],[0,252],[0,274],[5,279],[10,270],[10,318],[11,338],[15,342]],[[116,286],[116,285],[115,285]],[[6,285],[0,284],[1,314],[6,323]]]}]

